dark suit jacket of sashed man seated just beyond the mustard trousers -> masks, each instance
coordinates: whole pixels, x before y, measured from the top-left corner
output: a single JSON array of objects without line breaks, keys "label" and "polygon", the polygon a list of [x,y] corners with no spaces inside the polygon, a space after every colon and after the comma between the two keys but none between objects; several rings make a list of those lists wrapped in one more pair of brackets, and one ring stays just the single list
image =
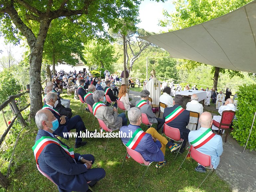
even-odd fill
[{"label": "dark suit jacket of sashed man seated just beyond the mustard trousers", "polygon": [[[165,112],[163,115],[163,119],[167,117],[170,113],[172,113],[179,105],[174,105],[173,107],[165,108]],[[189,124],[190,112],[185,110],[183,111],[177,118],[167,123],[168,126],[180,129],[181,137],[184,133],[189,133],[189,129],[186,126]]]}]

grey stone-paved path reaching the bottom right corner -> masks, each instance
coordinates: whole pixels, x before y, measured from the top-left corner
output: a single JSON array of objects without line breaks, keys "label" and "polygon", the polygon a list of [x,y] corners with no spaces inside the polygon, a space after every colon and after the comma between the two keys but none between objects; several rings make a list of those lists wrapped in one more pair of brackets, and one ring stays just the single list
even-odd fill
[{"label": "grey stone-paved path reaching the bottom right corner", "polygon": [[[135,105],[140,99],[140,93],[130,90],[131,103]],[[217,111],[213,106],[205,106],[204,111],[210,111],[216,115]],[[217,175],[228,182],[233,192],[256,191],[256,151],[245,150],[237,141],[230,136],[225,141],[225,134],[222,135],[223,154],[220,157],[220,164],[216,169]]]}]

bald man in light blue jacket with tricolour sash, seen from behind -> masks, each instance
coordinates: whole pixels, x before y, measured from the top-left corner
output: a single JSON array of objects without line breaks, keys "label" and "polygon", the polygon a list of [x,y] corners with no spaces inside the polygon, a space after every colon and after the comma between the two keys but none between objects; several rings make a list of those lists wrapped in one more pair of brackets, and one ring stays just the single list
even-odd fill
[{"label": "bald man in light blue jacket with tricolour sash, seen from behind", "polygon": [[[219,165],[219,156],[223,152],[222,138],[211,131],[212,118],[209,112],[201,114],[201,127],[199,130],[190,131],[189,143],[199,152],[211,156],[211,164],[216,169]],[[198,164],[195,171],[206,172],[205,168]]]}]

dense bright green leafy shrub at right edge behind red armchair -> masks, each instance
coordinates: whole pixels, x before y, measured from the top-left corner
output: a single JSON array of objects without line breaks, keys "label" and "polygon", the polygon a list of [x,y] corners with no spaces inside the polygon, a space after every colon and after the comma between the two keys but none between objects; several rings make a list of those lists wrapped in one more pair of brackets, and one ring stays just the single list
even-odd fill
[{"label": "dense bright green leafy shrub at right edge behind red armchair", "polygon": [[[231,135],[241,146],[245,146],[248,139],[254,113],[256,112],[256,84],[239,86],[237,97],[236,119],[233,120]],[[246,146],[247,149],[256,150],[256,122]]]}]

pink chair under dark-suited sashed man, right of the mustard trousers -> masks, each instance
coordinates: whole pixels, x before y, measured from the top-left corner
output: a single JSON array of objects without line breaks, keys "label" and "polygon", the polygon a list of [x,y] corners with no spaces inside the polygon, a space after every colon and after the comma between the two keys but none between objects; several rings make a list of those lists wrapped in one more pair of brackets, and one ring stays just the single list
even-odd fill
[{"label": "pink chair under dark-suited sashed man, right of the mustard trousers", "polygon": [[[170,127],[167,124],[164,124],[163,134],[165,134],[165,136],[167,136],[168,138],[174,140],[175,142],[180,142],[181,146],[182,146],[184,140],[181,138],[180,129],[177,129],[177,128],[174,128],[174,127]],[[177,154],[175,156],[175,159],[177,158],[180,150],[181,150],[181,147],[179,147],[179,151],[177,152]]]}]

